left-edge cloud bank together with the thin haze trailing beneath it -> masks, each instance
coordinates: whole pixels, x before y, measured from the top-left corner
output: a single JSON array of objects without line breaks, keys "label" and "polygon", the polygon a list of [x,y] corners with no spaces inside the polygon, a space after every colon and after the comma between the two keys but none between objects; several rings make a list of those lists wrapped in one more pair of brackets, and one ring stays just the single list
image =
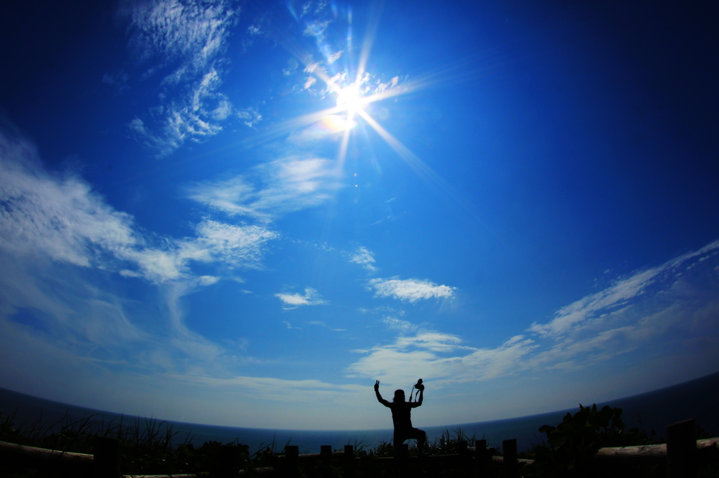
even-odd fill
[{"label": "left-edge cloud bank together with the thin haze trailing beneath it", "polygon": [[[48,171],[31,143],[0,132],[0,327],[27,347],[143,373],[182,372],[188,360],[214,373],[235,359],[186,327],[183,298],[236,269],[262,268],[277,237],[205,218],[191,237],[160,238],[78,174]],[[159,309],[116,294],[115,273],[152,283]]]}]

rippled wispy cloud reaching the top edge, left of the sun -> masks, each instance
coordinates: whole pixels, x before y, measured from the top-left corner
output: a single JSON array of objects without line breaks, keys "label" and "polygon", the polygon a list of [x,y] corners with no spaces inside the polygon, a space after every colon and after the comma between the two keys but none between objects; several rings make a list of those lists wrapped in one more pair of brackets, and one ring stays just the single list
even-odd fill
[{"label": "rippled wispy cloud reaching the top edge, left of the sun", "polygon": [[[170,68],[160,82],[162,104],[151,108],[150,116],[136,116],[127,125],[157,156],[171,154],[185,141],[216,135],[222,131],[221,122],[234,112],[229,98],[219,92],[217,66],[239,16],[239,7],[233,5],[223,0],[155,0],[122,7],[139,60],[160,59],[145,77]],[[261,118],[248,108],[237,111],[237,116],[250,127]]]}]

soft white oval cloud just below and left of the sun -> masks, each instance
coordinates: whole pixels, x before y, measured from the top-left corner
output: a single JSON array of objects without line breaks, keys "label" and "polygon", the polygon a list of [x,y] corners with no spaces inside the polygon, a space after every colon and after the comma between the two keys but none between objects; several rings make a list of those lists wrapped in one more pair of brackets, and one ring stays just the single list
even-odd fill
[{"label": "soft white oval cloud just below and left of the sun", "polygon": [[255,167],[247,177],[196,184],[189,197],[230,215],[269,221],[320,205],[339,187],[334,161],[290,156]]}]

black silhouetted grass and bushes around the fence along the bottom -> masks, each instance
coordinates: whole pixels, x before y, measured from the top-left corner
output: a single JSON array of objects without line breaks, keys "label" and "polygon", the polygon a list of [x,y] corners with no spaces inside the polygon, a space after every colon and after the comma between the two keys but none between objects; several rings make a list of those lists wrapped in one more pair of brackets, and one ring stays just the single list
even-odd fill
[{"label": "black silhouetted grass and bushes around the fence along the bottom", "polygon": [[[523,477],[537,478],[574,478],[594,477],[600,472],[592,462],[592,456],[604,446],[632,446],[656,444],[652,430],[647,433],[640,428],[626,429],[620,418],[621,409],[605,407],[597,411],[596,406],[580,407],[573,416],[567,413],[558,426],[542,426],[539,431],[546,435],[539,437],[530,451],[521,457],[535,460],[533,464],[521,469]],[[191,444],[190,434],[178,434],[165,421],[154,418],[133,418],[123,416],[111,421],[88,416],[73,420],[69,415],[57,422],[37,421],[25,426],[16,426],[15,416],[3,416],[0,413],[0,441],[25,446],[37,446],[45,449],[72,451],[76,453],[93,453],[95,436],[106,436],[118,439],[121,444],[122,474],[180,474],[219,471],[216,467],[220,454],[229,451],[235,456],[234,469],[244,469],[252,476],[258,467],[275,467],[280,470],[285,447],[278,449],[273,439],[263,444],[253,454],[249,454],[248,446],[237,443],[228,444],[208,441],[202,446]],[[706,432],[697,430],[697,438],[706,438]],[[439,438],[426,446],[426,454],[448,455],[459,452],[459,441],[466,441],[468,446],[476,445],[475,436],[467,436],[461,428],[450,431],[447,429]],[[286,445],[290,444],[288,441]],[[491,444],[499,449],[496,444]],[[491,446],[487,444],[487,447]],[[307,450],[303,450],[306,452]],[[342,451],[338,449],[335,451]],[[362,441],[354,443],[354,456],[357,458],[350,466],[342,459],[303,461],[295,474],[299,478],[345,478],[372,477],[385,478],[395,476],[393,461],[382,460],[383,457],[394,456],[392,444],[383,442],[377,446],[367,446]],[[410,456],[417,454],[416,442],[410,442]],[[472,476],[471,460],[436,461],[433,459],[412,461],[407,464],[407,476],[413,477],[455,477]],[[48,467],[49,468],[49,467]],[[666,467],[641,466],[620,467],[619,469],[603,470],[601,476],[659,477],[666,476]],[[488,476],[502,476],[501,465],[490,463]],[[61,472],[58,469],[43,469],[32,461],[17,459],[14,456],[0,456],[0,475],[11,478],[45,478],[73,476],[82,474]],[[701,477],[719,478],[719,470],[712,464],[700,468]]]}]

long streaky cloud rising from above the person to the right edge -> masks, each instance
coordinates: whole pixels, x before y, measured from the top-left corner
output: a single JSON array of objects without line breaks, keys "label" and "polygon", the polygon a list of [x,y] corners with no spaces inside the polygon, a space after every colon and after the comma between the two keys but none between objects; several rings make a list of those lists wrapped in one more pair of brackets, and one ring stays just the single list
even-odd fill
[{"label": "long streaky cloud rising from above the person to the right edge", "polygon": [[444,387],[522,373],[581,370],[640,349],[644,355],[661,356],[684,344],[696,350],[697,365],[709,373],[719,360],[718,314],[719,240],[618,278],[562,307],[550,322],[534,323],[527,335],[511,337],[498,347],[470,347],[457,334],[383,317],[383,324],[400,337],[357,351],[363,357],[347,372],[390,383],[422,376]]}]

